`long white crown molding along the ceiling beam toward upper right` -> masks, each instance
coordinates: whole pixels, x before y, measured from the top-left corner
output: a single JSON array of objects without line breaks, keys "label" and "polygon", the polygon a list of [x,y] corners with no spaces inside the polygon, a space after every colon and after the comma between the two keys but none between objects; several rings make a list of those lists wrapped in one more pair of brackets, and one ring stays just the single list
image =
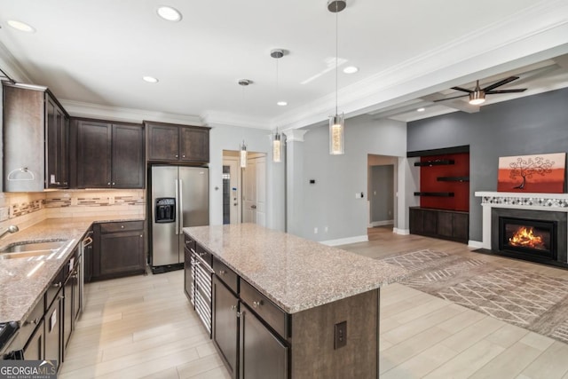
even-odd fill
[{"label": "long white crown molding along the ceiling beam toward upper right", "polygon": [[[509,18],[407,59],[337,93],[349,117],[415,99],[451,85],[495,75],[568,52],[568,4],[542,0]],[[325,120],[335,93],[273,118],[272,127],[297,129]]]}]

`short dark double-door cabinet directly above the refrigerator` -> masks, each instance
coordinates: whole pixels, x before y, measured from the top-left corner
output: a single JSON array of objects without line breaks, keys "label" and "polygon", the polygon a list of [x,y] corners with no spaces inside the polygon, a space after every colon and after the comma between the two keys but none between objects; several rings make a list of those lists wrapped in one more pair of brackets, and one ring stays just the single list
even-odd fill
[{"label": "short dark double-door cabinet directly above the refrigerator", "polygon": [[145,122],[150,162],[209,162],[209,128]]}]

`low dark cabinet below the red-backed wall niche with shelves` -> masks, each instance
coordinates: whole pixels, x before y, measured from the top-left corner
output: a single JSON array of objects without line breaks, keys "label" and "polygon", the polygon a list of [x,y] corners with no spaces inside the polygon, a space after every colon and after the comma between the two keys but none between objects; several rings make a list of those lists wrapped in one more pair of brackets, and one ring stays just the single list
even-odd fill
[{"label": "low dark cabinet below the red-backed wall niche with shelves", "polygon": [[411,207],[410,233],[467,243],[469,213],[446,209]]}]

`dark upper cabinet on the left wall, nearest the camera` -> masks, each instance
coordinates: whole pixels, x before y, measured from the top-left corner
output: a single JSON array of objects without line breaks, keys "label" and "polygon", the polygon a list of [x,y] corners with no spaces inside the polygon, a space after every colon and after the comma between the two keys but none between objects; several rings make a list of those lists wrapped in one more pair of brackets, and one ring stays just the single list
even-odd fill
[{"label": "dark upper cabinet on the left wall, nearest the camera", "polygon": [[69,186],[69,117],[40,86],[3,83],[4,191]]}]

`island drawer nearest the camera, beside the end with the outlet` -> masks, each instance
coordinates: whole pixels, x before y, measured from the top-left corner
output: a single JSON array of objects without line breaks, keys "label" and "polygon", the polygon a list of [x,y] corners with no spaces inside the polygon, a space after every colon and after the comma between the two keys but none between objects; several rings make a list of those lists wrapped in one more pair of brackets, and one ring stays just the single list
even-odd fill
[{"label": "island drawer nearest the camera, beside the end with the outlet", "polygon": [[241,300],[280,336],[288,336],[288,314],[241,278]]}]

